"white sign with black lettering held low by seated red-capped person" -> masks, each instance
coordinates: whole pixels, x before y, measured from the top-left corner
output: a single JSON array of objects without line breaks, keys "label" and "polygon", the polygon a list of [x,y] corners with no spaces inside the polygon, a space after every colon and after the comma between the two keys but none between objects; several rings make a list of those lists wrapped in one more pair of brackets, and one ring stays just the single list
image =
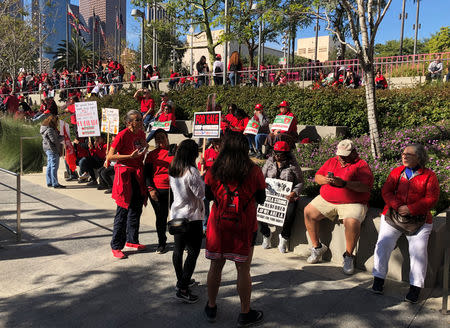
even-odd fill
[{"label": "white sign with black lettering held low by seated red-capped person", "polygon": [[282,227],[289,204],[285,196],[291,193],[292,182],[266,178],[266,185],[266,201],[263,205],[258,205],[256,218]]}]

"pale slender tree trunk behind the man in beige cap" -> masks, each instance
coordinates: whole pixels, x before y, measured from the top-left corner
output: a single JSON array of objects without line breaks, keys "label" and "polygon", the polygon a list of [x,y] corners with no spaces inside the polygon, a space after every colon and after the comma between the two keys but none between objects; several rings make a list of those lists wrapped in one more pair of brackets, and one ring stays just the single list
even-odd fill
[{"label": "pale slender tree trunk behind the man in beige cap", "polygon": [[367,119],[369,121],[370,148],[374,158],[381,157],[381,143],[377,124],[377,107],[375,102],[375,76],[373,66],[363,67],[366,80]]}]

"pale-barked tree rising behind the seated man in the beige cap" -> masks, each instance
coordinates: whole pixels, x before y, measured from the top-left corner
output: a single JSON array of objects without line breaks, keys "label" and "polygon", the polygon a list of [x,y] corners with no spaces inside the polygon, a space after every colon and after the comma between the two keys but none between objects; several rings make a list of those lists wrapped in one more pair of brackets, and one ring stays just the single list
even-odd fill
[{"label": "pale-barked tree rising behind the seated man in the beige cap", "polygon": [[[372,155],[381,157],[381,142],[377,124],[375,74],[374,74],[374,50],[375,37],[378,28],[391,5],[392,0],[327,0],[318,1],[324,8],[323,14],[310,11],[310,15],[317,15],[327,22],[326,29],[336,35],[340,43],[353,49],[359,59],[359,65],[365,77],[365,94],[367,103],[367,118],[369,121],[369,134]],[[333,29],[330,16],[337,6],[341,6],[347,16],[350,33],[354,45],[342,40],[339,33]]]}]

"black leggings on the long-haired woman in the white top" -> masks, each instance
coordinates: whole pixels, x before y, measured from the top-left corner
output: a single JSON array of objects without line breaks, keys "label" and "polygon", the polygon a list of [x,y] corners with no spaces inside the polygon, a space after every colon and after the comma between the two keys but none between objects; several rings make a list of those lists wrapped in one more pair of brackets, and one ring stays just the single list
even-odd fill
[{"label": "black leggings on the long-haired woman in the white top", "polygon": [[[202,246],[203,228],[202,220],[191,221],[185,233],[174,235],[175,247],[173,249],[172,263],[177,275],[177,287],[186,290],[194,273],[198,254]],[[183,252],[186,248],[188,254],[183,266]]]}]

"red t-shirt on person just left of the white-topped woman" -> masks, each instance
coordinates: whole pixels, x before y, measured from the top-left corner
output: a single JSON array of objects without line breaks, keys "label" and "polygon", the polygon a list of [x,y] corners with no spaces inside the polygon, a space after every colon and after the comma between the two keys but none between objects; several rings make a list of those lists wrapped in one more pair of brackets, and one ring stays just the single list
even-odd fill
[{"label": "red t-shirt on person just left of the white-topped woman", "polygon": [[152,164],[153,183],[156,189],[169,189],[169,165],[173,156],[164,148],[156,148],[148,153],[146,163]]}]

